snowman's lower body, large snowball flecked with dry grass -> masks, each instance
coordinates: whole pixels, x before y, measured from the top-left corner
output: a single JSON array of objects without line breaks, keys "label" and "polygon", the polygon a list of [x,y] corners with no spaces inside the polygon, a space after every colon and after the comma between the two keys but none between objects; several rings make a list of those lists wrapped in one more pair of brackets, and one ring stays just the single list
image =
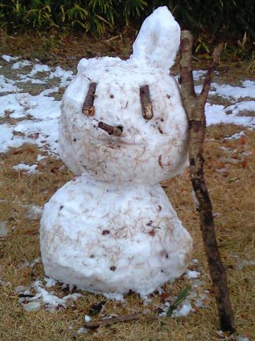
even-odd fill
[{"label": "snowman's lower body, large snowball flecked with dry grass", "polygon": [[127,188],[84,175],[45,205],[40,243],[47,276],[115,297],[130,290],[146,295],[173,281],[192,249],[159,185]]}]

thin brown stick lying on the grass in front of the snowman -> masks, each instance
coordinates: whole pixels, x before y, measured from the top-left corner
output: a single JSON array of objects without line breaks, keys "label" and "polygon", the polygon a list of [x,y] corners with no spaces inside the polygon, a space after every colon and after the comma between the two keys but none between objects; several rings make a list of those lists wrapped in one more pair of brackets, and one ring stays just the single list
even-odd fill
[{"label": "thin brown stick lying on the grass in front of the snowman", "polygon": [[84,327],[85,328],[98,328],[101,325],[113,325],[113,323],[125,322],[125,321],[130,321],[130,320],[141,320],[142,318],[145,318],[145,320],[154,320],[155,316],[149,315],[149,314],[143,314],[143,313],[132,313],[128,315],[116,316],[114,318],[105,318],[103,320],[87,322],[85,323]]}]

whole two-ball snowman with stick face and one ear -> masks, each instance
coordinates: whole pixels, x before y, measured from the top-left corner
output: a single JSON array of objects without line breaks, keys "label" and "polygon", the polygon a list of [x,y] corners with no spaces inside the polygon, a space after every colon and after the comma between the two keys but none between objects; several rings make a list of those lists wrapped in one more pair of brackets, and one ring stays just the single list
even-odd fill
[{"label": "whole two-ball snowman with stick face and one ear", "polygon": [[192,240],[159,185],[187,164],[169,75],[180,28],[159,7],[129,60],[82,59],[62,99],[60,157],[77,175],[45,204],[45,274],[98,293],[152,293],[186,270]]}]

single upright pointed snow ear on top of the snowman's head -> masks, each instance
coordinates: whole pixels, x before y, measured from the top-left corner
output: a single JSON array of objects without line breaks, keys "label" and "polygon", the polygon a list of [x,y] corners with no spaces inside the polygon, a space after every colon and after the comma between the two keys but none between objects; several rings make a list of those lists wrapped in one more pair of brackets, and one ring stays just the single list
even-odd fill
[{"label": "single upright pointed snow ear on top of the snowman's head", "polygon": [[181,29],[166,6],[156,9],[145,21],[135,43],[132,60],[154,67],[170,68],[179,50]]}]

